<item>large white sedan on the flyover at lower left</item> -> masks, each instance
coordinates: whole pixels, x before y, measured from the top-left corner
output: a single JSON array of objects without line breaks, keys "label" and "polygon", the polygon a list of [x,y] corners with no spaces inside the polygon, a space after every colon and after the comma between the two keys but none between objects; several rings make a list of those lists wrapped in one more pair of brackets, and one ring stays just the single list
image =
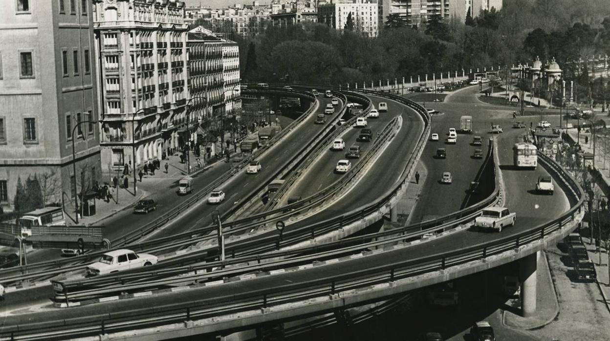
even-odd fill
[{"label": "large white sedan on the flyover at lower left", "polygon": [[106,275],[117,271],[131,270],[157,264],[157,256],[128,249],[118,249],[102,254],[99,260],[87,267],[87,275]]}]

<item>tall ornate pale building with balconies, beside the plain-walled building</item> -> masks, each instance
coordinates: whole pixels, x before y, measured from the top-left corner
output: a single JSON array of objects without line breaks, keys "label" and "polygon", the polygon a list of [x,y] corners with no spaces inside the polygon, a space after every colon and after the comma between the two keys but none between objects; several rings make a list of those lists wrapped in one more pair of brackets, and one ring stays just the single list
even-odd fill
[{"label": "tall ornate pale building with balconies, beside the plain-walled building", "polygon": [[[190,140],[184,3],[93,0],[104,173],[163,159]],[[187,130],[188,127],[188,130]]]}]

